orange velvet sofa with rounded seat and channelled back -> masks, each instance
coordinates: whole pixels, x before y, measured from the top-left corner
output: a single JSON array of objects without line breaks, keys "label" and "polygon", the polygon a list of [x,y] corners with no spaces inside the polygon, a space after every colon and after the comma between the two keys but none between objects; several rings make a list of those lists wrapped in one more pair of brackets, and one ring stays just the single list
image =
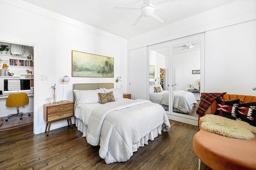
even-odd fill
[{"label": "orange velvet sofa with rounded seat and channelled back", "polygon": [[[224,100],[240,99],[241,102],[256,102],[256,96],[224,94]],[[214,114],[216,100],[206,110],[205,114]],[[234,139],[211,133],[201,129],[198,117],[198,131],[193,138],[193,149],[201,161],[213,170],[244,170],[256,169],[256,134],[253,140]]]}]

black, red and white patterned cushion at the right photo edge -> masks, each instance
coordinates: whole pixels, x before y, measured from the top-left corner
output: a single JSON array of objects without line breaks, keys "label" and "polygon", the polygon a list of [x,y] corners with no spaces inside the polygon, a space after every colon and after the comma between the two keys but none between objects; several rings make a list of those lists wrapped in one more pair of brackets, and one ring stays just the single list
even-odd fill
[{"label": "black, red and white patterned cushion at the right photo edge", "polygon": [[255,125],[256,102],[240,103],[238,105],[237,118],[250,125]]}]

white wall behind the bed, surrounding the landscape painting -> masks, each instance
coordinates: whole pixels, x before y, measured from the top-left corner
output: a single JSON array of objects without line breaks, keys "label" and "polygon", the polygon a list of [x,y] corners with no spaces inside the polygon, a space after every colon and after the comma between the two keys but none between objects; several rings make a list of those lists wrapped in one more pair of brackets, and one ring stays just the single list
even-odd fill
[{"label": "white wall behind the bed, surrounding the landscape painting", "polygon": [[[0,26],[0,41],[35,47],[35,133],[45,130],[43,104],[48,102],[47,98],[52,94],[51,86],[55,83],[57,100],[61,100],[64,75],[70,76],[70,82],[65,84],[64,100],[72,101],[74,83],[113,82],[116,86],[117,76],[124,78],[123,92],[127,92],[125,39],[21,0],[0,0],[0,16],[7,18]],[[72,50],[114,57],[114,78],[71,77]],[[41,81],[40,75],[48,75],[48,80]],[[53,123],[51,129],[66,126],[66,123]]]}]

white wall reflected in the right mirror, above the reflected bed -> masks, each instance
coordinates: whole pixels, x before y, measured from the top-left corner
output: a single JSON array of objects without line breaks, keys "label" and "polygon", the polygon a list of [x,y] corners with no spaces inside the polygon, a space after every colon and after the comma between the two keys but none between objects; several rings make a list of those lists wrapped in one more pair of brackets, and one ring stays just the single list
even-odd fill
[{"label": "white wall reflected in the right mirror, above the reflected bed", "polygon": [[173,68],[177,68],[177,90],[187,91],[188,84],[199,89],[196,82],[200,74],[192,74],[192,70],[200,70],[200,54],[174,55]]}]

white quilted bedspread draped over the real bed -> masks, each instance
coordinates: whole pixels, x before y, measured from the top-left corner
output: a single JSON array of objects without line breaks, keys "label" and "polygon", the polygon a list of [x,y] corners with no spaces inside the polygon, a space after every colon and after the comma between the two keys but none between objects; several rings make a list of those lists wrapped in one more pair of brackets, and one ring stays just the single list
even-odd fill
[{"label": "white quilted bedspread draped over the real bed", "polygon": [[170,130],[162,106],[148,100],[118,99],[87,106],[76,109],[75,116],[88,126],[86,140],[91,145],[100,145],[99,155],[107,164],[130,159],[132,152],[144,146],[144,143],[138,144],[142,139],[154,140],[161,134],[163,124],[163,131]]}]

